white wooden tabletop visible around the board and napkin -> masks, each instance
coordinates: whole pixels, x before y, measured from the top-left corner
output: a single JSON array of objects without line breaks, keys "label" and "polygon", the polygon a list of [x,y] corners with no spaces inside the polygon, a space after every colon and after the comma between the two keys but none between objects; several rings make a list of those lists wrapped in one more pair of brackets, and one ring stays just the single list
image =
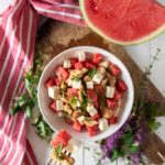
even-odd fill
[{"label": "white wooden tabletop visible around the board and napkin", "polygon": [[[12,0],[0,0],[0,12],[7,9],[11,1]],[[164,0],[160,0],[160,2],[165,4]],[[145,70],[145,67],[150,65],[152,56],[155,55],[157,48],[161,50],[158,61],[156,61],[154,64],[154,68],[152,69],[152,75],[150,79],[165,97],[165,34],[162,34],[145,44],[141,44],[138,46],[125,46],[124,48],[142,70]],[[157,120],[161,121],[162,127],[156,131],[156,133],[158,133],[161,139],[165,142],[165,118],[158,118]],[[28,129],[28,139],[30,140],[32,146],[34,146],[33,150],[38,164],[45,165],[48,161],[48,144],[38,139],[38,136],[34,132],[34,129],[31,125],[29,125]],[[89,145],[90,148],[99,148],[95,144]],[[81,148],[76,155],[76,165],[96,165],[92,155],[94,152],[89,152],[87,150],[84,151]]]}]

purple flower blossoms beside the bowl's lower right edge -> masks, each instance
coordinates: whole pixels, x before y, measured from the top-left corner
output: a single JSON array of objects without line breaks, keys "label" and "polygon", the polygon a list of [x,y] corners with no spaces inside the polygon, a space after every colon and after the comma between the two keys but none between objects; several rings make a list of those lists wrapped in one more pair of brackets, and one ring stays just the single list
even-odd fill
[{"label": "purple flower blossoms beside the bowl's lower right edge", "polygon": [[[130,117],[129,120],[123,124],[123,127],[117,131],[114,134],[108,136],[106,140],[102,141],[101,144],[101,150],[103,152],[102,161],[106,160],[106,157],[111,158],[112,152],[114,148],[120,150],[122,141],[119,141],[120,138],[123,135],[123,133],[127,133],[129,127],[131,127],[131,135],[133,138],[132,143],[138,143],[140,144],[142,142],[142,125],[141,125],[141,120],[136,119],[135,117]],[[130,130],[129,130],[130,131]],[[141,161],[141,153],[138,152],[135,154],[127,155],[131,160],[132,165],[136,165]]]}]

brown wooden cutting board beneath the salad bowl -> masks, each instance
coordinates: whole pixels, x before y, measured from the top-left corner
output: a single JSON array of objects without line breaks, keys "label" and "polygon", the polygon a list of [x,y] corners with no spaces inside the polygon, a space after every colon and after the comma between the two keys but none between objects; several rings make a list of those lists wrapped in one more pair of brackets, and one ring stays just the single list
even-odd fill
[{"label": "brown wooden cutting board beneath the salad bowl", "polygon": [[[123,47],[105,41],[88,28],[48,20],[37,33],[36,46],[37,45],[42,46],[44,52],[50,55],[48,59],[44,59],[45,63],[58,53],[74,46],[92,45],[105,48],[114,54],[125,64],[131,73],[134,88],[135,90],[139,90],[143,73],[138,65],[132,61]],[[151,100],[162,100],[163,103],[160,109],[161,116],[165,108],[165,98],[151,81],[148,82],[147,90]],[[143,153],[151,163],[162,164],[163,162],[157,155],[157,151],[165,156],[165,143],[154,133],[146,131],[145,136],[146,141],[142,144]]]}]

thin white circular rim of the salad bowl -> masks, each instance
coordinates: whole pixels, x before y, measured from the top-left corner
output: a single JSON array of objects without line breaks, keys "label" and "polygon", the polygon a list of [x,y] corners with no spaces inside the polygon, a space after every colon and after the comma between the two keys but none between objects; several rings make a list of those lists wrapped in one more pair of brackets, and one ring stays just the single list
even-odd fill
[{"label": "thin white circular rim of the salad bowl", "polygon": [[[56,128],[54,128],[54,127],[51,124],[51,122],[48,121],[48,119],[45,117],[44,111],[43,111],[42,106],[41,106],[41,99],[40,99],[40,92],[41,92],[41,91],[40,91],[40,88],[41,88],[41,85],[43,84],[43,81],[42,81],[43,76],[44,76],[44,74],[46,73],[47,68],[52,65],[52,63],[54,63],[54,61],[56,61],[56,58],[59,58],[63,54],[66,54],[67,52],[72,52],[72,51],[78,51],[78,50],[79,50],[79,51],[85,50],[85,52],[87,52],[86,50],[90,50],[90,48],[92,48],[92,50],[99,50],[100,52],[102,52],[102,54],[103,54],[103,52],[105,52],[106,54],[109,54],[111,57],[113,56],[113,58],[116,58],[117,61],[119,61],[119,63],[121,63],[121,64],[123,65],[123,68],[125,69],[125,72],[127,72],[127,74],[128,74],[128,77],[127,77],[127,78],[129,78],[129,81],[130,81],[130,85],[131,85],[131,86],[129,87],[129,88],[130,88],[130,91],[131,91],[131,94],[130,94],[130,98],[131,98],[131,99],[130,99],[129,105],[128,105],[128,107],[127,107],[127,110],[129,111],[129,113],[128,113],[127,118],[124,118],[124,120],[122,120],[122,121],[120,122],[119,127],[118,127],[114,131],[111,131],[112,133],[109,134],[109,135],[112,135],[112,134],[114,134],[117,131],[119,131],[119,130],[122,128],[122,125],[127,122],[127,120],[129,119],[129,117],[130,117],[130,114],[131,114],[132,107],[133,107],[133,101],[134,101],[134,86],[133,86],[133,80],[132,80],[132,78],[131,78],[130,72],[128,70],[127,66],[121,62],[121,59],[119,59],[114,54],[108,52],[107,50],[103,50],[103,48],[100,48],[100,47],[96,47],[96,46],[75,46],[75,47],[70,47],[70,48],[67,48],[67,50],[61,52],[59,54],[57,54],[55,57],[53,57],[53,58],[47,63],[47,65],[45,66],[44,70],[42,72],[42,75],[41,75],[41,77],[40,77],[40,81],[38,81],[38,85],[37,85],[37,102],[38,102],[40,111],[41,111],[41,113],[42,113],[42,116],[43,116],[45,122],[46,122],[55,132],[59,132],[59,130],[56,129]],[[97,52],[97,51],[96,51],[96,52]],[[90,51],[89,51],[89,53],[90,53]],[[105,56],[106,56],[106,55],[105,55]],[[107,57],[107,56],[106,56],[106,57]],[[109,61],[109,59],[108,59],[108,61]],[[116,64],[116,63],[114,63],[114,64]],[[125,110],[125,108],[124,108],[123,110]],[[106,131],[107,131],[107,130],[106,130]],[[103,132],[106,132],[106,131],[103,131]],[[88,140],[85,140],[84,142],[95,142],[95,141],[99,141],[99,140],[102,140],[102,139],[108,138],[109,135],[106,135],[106,136],[103,136],[103,138],[101,138],[101,139],[92,136],[95,140],[91,139],[90,136],[88,136]],[[97,135],[96,135],[96,136],[97,136]],[[75,138],[75,136],[74,136],[74,138]],[[75,138],[75,139],[76,139],[76,138]]]}]

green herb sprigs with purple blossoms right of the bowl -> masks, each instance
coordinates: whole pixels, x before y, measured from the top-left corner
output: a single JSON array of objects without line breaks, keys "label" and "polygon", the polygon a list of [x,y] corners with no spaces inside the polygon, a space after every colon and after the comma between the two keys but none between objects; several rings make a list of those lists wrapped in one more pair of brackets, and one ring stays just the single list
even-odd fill
[{"label": "green herb sprigs with purple blossoms right of the bowl", "polygon": [[161,125],[155,120],[161,105],[147,98],[148,76],[151,75],[155,61],[157,61],[158,53],[160,50],[157,50],[153,61],[142,76],[140,89],[135,94],[132,113],[128,122],[118,132],[101,142],[100,147],[103,152],[103,157],[110,161],[125,157],[129,160],[129,164],[144,164],[140,151],[142,134],[145,134],[143,133],[144,125],[142,123],[145,121],[147,129],[151,131],[155,131]]}]

